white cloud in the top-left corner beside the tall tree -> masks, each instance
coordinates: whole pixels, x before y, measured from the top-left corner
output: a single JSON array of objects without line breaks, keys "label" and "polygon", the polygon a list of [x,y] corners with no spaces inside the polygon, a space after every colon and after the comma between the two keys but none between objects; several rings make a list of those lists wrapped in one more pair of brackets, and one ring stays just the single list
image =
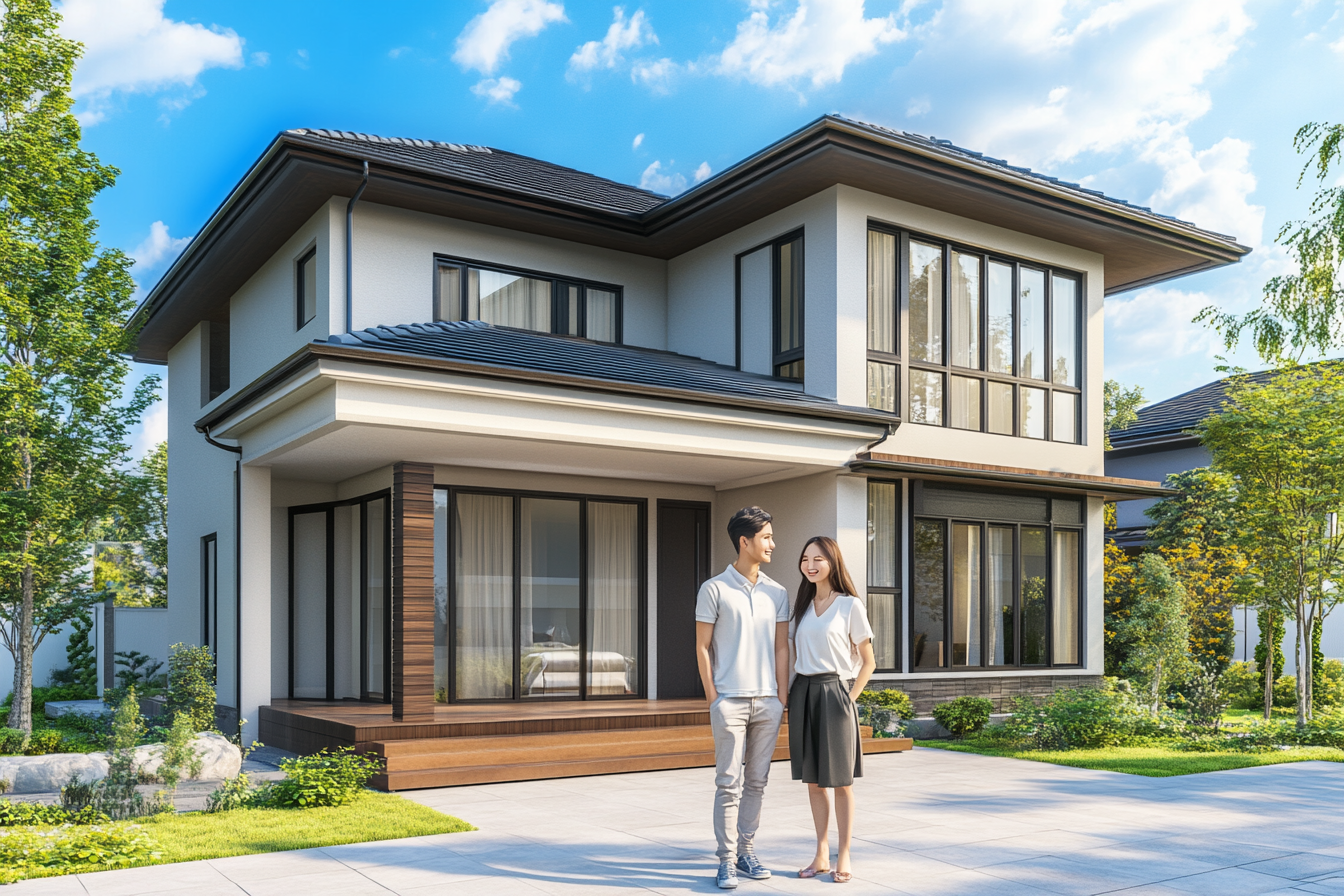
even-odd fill
[{"label": "white cloud in the top-left corner beside the tall tree", "polygon": [[65,0],[63,36],[85,46],[70,93],[86,103],[79,120],[106,117],[113,93],[194,87],[206,69],[241,69],[243,42],[231,28],[173,21],[164,0]]}]

